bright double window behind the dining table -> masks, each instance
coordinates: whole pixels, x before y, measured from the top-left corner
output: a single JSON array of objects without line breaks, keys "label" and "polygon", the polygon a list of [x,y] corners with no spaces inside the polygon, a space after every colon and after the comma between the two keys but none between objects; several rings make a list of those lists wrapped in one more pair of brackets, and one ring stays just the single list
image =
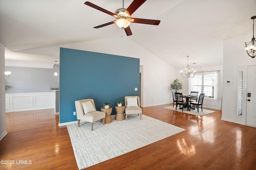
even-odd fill
[{"label": "bright double window behind the dining table", "polygon": [[196,76],[190,79],[190,91],[205,93],[204,98],[217,100],[217,82],[218,72],[197,72]]}]

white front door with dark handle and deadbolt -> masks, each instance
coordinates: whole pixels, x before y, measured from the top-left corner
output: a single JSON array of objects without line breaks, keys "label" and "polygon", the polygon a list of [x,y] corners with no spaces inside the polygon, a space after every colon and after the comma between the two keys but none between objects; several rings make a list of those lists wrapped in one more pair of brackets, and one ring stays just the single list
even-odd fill
[{"label": "white front door with dark handle and deadbolt", "polygon": [[247,67],[246,125],[256,127],[256,66]]}]

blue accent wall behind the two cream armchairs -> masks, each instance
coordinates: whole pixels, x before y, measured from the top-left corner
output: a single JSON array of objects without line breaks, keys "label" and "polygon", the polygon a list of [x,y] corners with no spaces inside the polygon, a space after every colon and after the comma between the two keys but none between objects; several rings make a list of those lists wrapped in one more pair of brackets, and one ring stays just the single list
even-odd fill
[{"label": "blue accent wall behind the two cream armchairs", "polygon": [[[140,59],[60,48],[60,123],[76,121],[75,100],[94,99],[96,110],[139,96]],[[134,88],[138,88],[135,91]]]}]

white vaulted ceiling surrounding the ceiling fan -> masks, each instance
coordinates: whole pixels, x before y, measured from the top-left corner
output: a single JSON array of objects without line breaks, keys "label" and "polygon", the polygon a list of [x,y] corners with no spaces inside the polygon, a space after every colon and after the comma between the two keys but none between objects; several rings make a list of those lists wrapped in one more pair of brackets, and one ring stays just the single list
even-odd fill
[{"label": "white vaulted ceiling surrounding the ceiling fan", "polygon": [[[89,0],[110,12],[122,0]],[[85,0],[0,0],[0,42],[6,61],[52,63],[59,47],[139,58],[143,49],[176,69],[222,65],[223,41],[252,34],[256,0],[147,0],[134,18],[161,20],[158,26],[131,23],[122,38],[114,17],[84,5]],[[124,0],[127,8],[132,0]],[[248,39],[247,41],[250,41]],[[134,45],[140,48],[130,49]],[[244,44],[241,44],[244,48]],[[129,53],[126,53],[126,51]]]}]

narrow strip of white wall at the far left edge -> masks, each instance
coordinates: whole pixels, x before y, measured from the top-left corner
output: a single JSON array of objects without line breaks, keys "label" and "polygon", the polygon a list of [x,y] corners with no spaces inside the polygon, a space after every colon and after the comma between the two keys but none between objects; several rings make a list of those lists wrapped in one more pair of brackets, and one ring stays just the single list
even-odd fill
[{"label": "narrow strip of white wall at the far left edge", "polygon": [[7,134],[5,128],[4,45],[0,43],[0,140]]}]

